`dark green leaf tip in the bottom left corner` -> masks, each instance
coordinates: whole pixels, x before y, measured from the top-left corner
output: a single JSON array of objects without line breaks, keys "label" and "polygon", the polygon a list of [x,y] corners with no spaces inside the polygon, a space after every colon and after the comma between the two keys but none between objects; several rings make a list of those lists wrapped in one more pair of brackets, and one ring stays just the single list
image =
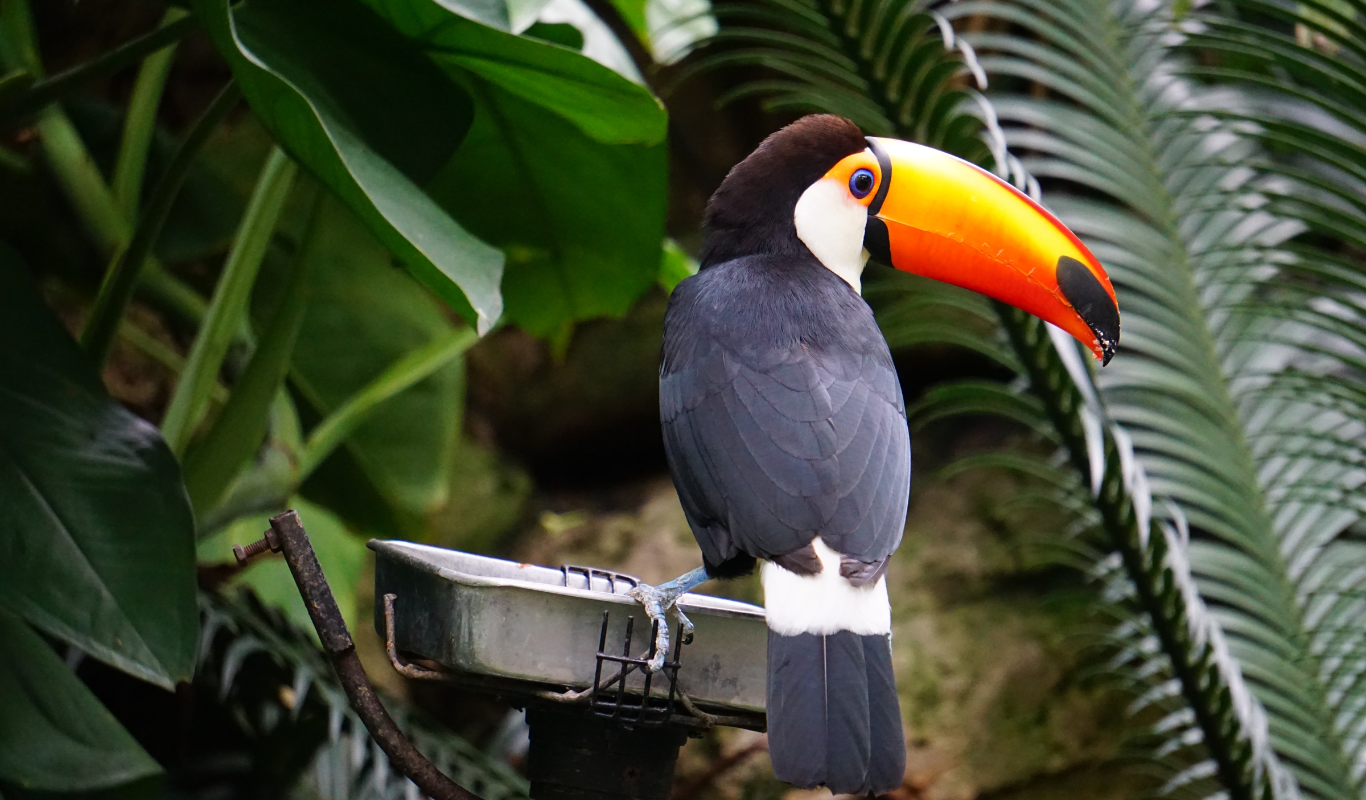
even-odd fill
[{"label": "dark green leaf tip in the bottom left corner", "polygon": [[82,792],[160,771],[52,647],[0,609],[0,781]]}]

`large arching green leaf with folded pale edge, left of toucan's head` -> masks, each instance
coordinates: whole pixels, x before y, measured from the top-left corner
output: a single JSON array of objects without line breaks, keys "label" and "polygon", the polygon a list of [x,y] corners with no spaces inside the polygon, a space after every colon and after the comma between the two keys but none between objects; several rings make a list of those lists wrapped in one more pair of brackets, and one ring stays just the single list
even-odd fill
[{"label": "large arching green leaf with folded pale edge, left of toucan's head", "polygon": [[[541,334],[620,314],[650,285],[665,115],[647,89],[501,30],[501,4],[199,0],[197,10],[291,156],[479,332],[503,313],[500,283],[510,319]],[[490,154],[485,135],[433,183],[471,119],[501,152]],[[462,225],[516,269],[504,277],[500,254]]]}]

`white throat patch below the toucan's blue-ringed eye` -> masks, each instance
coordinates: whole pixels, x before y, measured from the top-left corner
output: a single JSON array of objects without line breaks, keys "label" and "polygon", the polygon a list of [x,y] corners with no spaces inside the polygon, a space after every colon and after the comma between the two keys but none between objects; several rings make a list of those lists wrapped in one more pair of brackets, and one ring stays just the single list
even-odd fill
[{"label": "white throat patch below the toucan's blue-ringed eye", "polygon": [[854,199],[839,182],[821,179],[796,201],[792,214],[796,238],[816,255],[825,269],[840,276],[854,291],[863,294],[863,228],[867,209]]}]

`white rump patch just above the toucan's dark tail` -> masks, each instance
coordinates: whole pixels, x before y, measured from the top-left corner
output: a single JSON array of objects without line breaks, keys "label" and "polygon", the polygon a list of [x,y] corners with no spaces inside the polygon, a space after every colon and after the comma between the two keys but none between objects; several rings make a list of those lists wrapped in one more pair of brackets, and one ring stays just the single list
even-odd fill
[{"label": "white rump patch just above the toucan's dark tail", "polygon": [[[862,208],[862,206],[861,206]],[[887,598],[887,577],[872,586],[854,586],[840,576],[840,554],[817,537],[811,545],[821,560],[818,575],[796,575],[770,561],[759,573],[764,580],[764,608],[775,633],[891,633],[892,603]]]}]

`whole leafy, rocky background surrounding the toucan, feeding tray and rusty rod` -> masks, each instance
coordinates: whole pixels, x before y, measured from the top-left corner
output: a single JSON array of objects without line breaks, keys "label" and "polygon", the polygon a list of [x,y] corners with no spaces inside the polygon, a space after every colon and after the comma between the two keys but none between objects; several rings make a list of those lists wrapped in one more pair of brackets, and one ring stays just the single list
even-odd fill
[{"label": "whole leafy, rocky background surrounding the toucan, feeding tray and rusty rod", "polygon": [[[0,796],[398,797],[280,561],[406,684],[367,538],[668,579],[657,359],[727,169],[810,111],[1038,197],[1120,354],[869,268],[912,425],[897,800],[1361,797],[1361,0],[0,0]],[[758,601],[753,580],[713,591]],[[758,734],[675,796],[776,799]]]}]

